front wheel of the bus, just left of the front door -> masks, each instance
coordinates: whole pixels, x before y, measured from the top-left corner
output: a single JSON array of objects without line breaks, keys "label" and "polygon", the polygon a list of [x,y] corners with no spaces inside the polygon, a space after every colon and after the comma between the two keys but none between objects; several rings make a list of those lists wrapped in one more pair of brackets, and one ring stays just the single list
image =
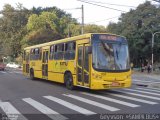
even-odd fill
[{"label": "front wheel of the bus, just left of the front door", "polygon": [[68,88],[69,90],[73,90],[74,85],[73,85],[73,77],[71,73],[66,73],[64,76],[64,80],[65,80],[66,88]]}]

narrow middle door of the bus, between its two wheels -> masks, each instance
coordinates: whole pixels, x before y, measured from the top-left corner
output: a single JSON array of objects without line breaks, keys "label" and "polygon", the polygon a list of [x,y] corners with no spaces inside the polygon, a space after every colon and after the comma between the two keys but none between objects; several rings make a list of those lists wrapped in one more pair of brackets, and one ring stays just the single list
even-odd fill
[{"label": "narrow middle door of the bus, between its two wheels", "polygon": [[42,78],[48,79],[48,50],[43,50]]}]

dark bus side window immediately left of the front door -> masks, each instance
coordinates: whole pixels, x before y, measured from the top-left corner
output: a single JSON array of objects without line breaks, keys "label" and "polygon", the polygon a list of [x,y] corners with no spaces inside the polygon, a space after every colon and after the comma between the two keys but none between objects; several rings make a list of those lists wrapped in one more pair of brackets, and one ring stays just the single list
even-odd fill
[{"label": "dark bus side window immediately left of the front door", "polygon": [[67,49],[65,50],[64,59],[65,60],[73,60],[75,59],[75,49],[76,49],[76,43],[75,42],[69,42],[67,44]]}]

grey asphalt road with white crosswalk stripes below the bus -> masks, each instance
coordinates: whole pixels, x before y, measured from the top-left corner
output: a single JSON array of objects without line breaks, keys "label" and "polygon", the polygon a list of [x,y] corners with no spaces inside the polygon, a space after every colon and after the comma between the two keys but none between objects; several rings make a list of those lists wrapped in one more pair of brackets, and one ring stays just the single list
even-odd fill
[{"label": "grey asphalt road with white crosswalk stripes below the bus", "polygon": [[0,113],[0,120],[160,120],[160,89],[70,91],[62,84],[29,80],[21,71],[0,71]]}]

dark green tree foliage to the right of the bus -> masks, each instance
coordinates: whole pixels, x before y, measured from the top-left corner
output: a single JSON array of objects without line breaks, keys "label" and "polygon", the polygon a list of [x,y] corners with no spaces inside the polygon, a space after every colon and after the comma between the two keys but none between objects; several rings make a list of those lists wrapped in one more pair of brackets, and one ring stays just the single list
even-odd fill
[{"label": "dark green tree foliage to the right of the bus", "polygon": [[[138,28],[138,21],[142,27]],[[118,23],[110,23],[109,32],[121,34],[128,39],[131,61],[135,65],[151,63],[152,34],[160,30],[160,7],[145,2],[135,10],[124,13]],[[160,61],[160,34],[155,37],[154,62]]]}]

